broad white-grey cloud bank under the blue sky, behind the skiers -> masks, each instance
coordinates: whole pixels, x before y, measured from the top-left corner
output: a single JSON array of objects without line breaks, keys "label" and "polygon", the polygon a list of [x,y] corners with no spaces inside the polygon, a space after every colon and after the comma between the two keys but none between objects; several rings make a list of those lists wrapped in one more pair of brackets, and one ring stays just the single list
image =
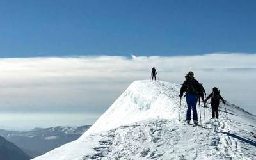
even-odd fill
[{"label": "broad white-grey cloud bank under the blue sky, behind the skiers", "polygon": [[208,92],[256,113],[256,54],[200,56],[72,56],[0,59],[1,111],[103,113],[134,80],[157,68],[164,81],[182,83],[195,72]]}]

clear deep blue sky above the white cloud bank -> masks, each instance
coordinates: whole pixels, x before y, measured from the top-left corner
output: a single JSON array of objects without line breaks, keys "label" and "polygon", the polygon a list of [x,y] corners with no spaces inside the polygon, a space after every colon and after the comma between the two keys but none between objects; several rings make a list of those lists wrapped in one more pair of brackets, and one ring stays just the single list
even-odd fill
[{"label": "clear deep blue sky above the white cloud bank", "polygon": [[255,53],[256,1],[1,1],[0,56]]}]

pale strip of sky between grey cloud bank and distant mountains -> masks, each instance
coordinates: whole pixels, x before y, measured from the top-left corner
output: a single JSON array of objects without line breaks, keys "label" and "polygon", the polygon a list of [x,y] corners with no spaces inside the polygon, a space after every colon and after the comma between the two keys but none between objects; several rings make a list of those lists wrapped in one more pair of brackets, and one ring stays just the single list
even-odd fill
[{"label": "pale strip of sky between grey cloud bank and distant mountains", "polygon": [[100,114],[86,113],[0,113],[0,128],[29,130],[35,127],[90,125]]}]

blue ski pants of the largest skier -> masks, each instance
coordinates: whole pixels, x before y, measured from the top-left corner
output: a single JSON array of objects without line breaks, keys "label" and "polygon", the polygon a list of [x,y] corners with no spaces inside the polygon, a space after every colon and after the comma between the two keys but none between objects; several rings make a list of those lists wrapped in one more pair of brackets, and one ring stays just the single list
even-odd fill
[{"label": "blue ski pants of the largest skier", "polygon": [[198,96],[196,94],[195,95],[186,95],[186,102],[188,105],[186,120],[191,120],[191,109],[193,109],[193,120],[198,120],[197,111],[196,111],[197,101],[198,101]]}]

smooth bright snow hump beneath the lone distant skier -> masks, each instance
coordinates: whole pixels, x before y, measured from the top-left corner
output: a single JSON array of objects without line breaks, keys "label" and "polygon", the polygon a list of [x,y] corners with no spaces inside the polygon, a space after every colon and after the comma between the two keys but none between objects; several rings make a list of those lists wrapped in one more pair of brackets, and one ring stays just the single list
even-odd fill
[{"label": "smooth bright snow hump beneath the lone distant skier", "polygon": [[163,81],[134,81],[83,136],[151,118],[177,118],[179,88]]}]

